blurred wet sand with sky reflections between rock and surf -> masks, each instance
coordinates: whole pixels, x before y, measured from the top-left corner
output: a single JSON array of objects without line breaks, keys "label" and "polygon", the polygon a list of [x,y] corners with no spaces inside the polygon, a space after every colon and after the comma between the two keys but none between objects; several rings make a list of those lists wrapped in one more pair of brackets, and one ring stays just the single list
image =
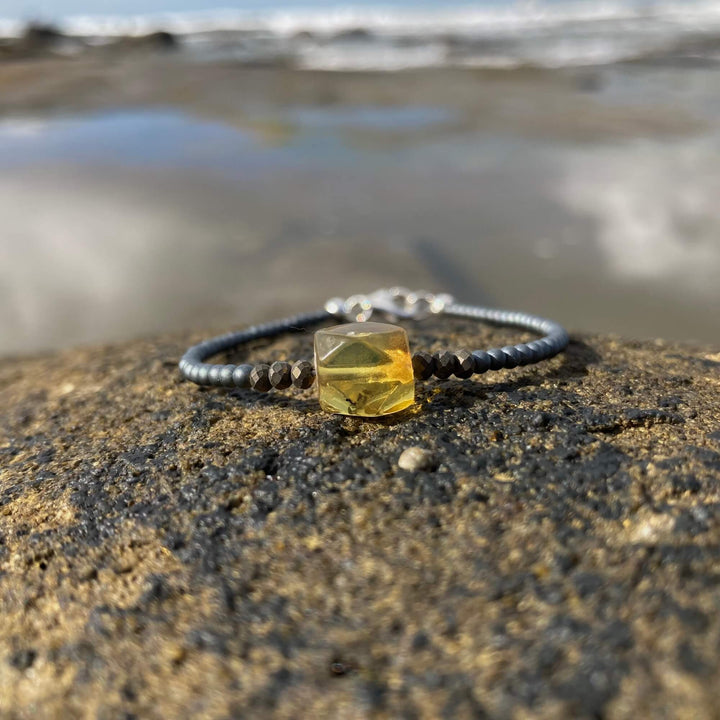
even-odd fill
[{"label": "blurred wet sand with sky reflections between rock and surf", "polygon": [[4,353],[388,283],[717,342],[708,68],[0,65]]}]

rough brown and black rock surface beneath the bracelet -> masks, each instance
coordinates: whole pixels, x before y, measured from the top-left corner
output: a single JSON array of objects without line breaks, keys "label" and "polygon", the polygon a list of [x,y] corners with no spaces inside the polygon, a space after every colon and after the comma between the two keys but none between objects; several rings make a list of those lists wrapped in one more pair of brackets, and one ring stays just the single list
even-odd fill
[{"label": "rough brown and black rock surface beneath the bracelet", "polygon": [[182,382],[194,339],[0,363],[0,716],[717,717],[720,354],[578,337],[363,422]]}]

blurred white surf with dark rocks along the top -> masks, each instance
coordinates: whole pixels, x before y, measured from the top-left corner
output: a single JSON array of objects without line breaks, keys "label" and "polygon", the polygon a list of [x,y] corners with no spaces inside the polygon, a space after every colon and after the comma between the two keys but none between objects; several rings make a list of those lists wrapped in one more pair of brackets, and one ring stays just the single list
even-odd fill
[{"label": "blurred white surf with dark rocks along the top", "polygon": [[209,10],[0,18],[0,59],[176,50],[200,61],[314,69],[582,68],[617,63],[718,66],[720,16],[707,3],[568,0],[432,8]]}]

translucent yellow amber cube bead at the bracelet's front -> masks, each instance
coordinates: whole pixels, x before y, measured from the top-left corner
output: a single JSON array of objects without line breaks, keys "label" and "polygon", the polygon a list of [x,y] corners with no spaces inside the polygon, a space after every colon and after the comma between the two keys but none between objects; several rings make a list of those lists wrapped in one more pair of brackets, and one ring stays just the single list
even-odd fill
[{"label": "translucent yellow amber cube bead at the bracelet's front", "polygon": [[377,417],[415,402],[407,333],[396,325],[364,322],[315,333],[315,367],[323,410]]}]

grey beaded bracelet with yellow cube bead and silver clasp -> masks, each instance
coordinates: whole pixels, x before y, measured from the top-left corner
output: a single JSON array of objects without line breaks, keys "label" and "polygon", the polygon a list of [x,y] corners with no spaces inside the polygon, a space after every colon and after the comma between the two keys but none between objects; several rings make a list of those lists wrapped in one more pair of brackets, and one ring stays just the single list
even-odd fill
[{"label": "grey beaded bracelet with yellow cube bead and silver clasp", "polygon": [[[538,340],[490,350],[448,350],[410,355],[402,327],[369,322],[381,313],[393,320],[421,320],[432,315],[470,318],[543,335]],[[271,365],[215,365],[205,360],[244,343],[302,332],[334,318],[347,324],[315,332],[315,360]],[[462,380],[489,370],[530,365],[554,357],[568,344],[563,327],[535,315],[461,305],[450,295],[410,292],[404,288],[369,295],[334,298],[322,310],[255,325],[205,340],[191,347],[179,363],[184,378],[198,385],[252,388],[260,392],[294,385],[306,389],[317,382],[323,410],[341,415],[377,417],[399,412],[415,401],[415,380],[451,375]]]}]

